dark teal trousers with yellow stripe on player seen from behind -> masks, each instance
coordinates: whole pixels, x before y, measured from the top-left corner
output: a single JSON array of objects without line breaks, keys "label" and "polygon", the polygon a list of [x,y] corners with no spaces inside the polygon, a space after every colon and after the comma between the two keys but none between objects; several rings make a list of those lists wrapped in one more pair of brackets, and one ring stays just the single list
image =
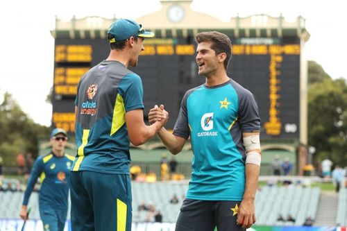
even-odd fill
[{"label": "dark teal trousers with yellow stripe on player seen from behind", "polygon": [[129,175],[73,171],[70,183],[71,230],[131,230]]}]

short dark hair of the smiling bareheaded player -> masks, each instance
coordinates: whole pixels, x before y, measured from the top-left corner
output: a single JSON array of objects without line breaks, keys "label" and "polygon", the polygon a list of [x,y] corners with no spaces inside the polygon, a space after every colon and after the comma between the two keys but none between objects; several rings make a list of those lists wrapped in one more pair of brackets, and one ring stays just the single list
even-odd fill
[{"label": "short dark hair of the smiling bareheaded player", "polygon": [[218,31],[201,32],[195,35],[195,41],[197,44],[201,42],[212,42],[211,49],[218,55],[220,53],[226,53],[226,60],[224,60],[224,68],[228,68],[228,64],[231,58],[232,45],[230,38]]}]

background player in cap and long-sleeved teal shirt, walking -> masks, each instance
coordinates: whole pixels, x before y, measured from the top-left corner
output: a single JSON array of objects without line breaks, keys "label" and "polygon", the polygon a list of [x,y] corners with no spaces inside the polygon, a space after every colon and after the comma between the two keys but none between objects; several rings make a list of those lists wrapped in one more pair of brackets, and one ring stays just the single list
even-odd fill
[{"label": "background player in cap and long-sleeved teal shirt, walking", "polygon": [[35,160],[19,216],[28,219],[28,200],[40,178],[39,210],[44,231],[62,231],[67,219],[70,168],[74,157],[65,154],[67,132],[64,129],[53,129],[50,141],[51,152]]}]

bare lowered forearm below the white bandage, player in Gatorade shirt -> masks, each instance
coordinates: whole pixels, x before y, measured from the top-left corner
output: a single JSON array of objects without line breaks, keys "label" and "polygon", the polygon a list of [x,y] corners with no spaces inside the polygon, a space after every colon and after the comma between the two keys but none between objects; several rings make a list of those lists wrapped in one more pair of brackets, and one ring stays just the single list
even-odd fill
[{"label": "bare lowered forearm below the white bandage, player in Gatorade shirt", "polygon": [[255,199],[259,173],[260,166],[257,166],[256,164],[246,164],[246,187],[244,190],[244,200]]}]

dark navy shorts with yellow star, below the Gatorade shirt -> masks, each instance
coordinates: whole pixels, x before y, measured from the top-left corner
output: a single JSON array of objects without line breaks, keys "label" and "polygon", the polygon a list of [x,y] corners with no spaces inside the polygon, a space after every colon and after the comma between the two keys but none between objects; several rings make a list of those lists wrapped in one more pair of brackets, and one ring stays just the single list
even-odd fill
[{"label": "dark navy shorts with yellow star, below the Gatorade shirt", "polygon": [[[176,222],[176,231],[244,230],[237,221],[241,201],[185,199]],[[237,206],[236,206],[237,205]]]}]

